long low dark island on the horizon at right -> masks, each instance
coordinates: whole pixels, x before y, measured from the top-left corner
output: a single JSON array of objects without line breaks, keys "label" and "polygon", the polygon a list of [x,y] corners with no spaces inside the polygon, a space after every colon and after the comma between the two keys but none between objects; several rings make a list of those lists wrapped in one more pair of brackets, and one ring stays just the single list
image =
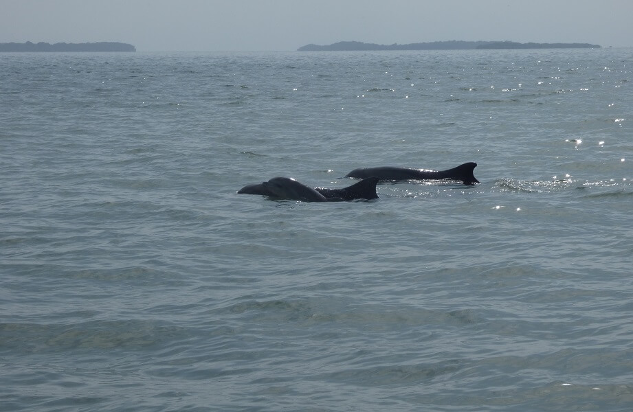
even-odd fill
[{"label": "long low dark island on the horizon at right", "polygon": [[474,50],[474,49],[599,49],[588,43],[515,43],[513,41],[433,41],[408,45],[377,45],[361,41],[340,41],[331,45],[305,45],[299,52],[351,52],[356,50]]}]

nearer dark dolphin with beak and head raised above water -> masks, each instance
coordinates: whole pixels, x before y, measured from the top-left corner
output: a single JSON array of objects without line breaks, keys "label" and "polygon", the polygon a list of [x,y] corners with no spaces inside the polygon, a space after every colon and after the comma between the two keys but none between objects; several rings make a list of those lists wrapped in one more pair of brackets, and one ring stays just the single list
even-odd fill
[{"label": "nearer dark dolphin with beak and head raised above water", "polygon": [[377,199],[377,177],[363,179],[348,187],[329,189],[309,187],[289,177],[275,177],[267,182],[246,185],[238,190],[241,194],[261,194],[270,198],[304,202],[340,202],[356,199]]}]

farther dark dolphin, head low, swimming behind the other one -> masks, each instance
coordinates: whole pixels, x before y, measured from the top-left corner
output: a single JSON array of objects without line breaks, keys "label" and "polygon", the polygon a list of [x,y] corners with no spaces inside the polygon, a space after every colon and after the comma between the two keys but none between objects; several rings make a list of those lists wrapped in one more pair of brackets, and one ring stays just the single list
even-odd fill
[{"label": "farther dark dolphin, head low, swimming behind the other one", "polygon": [[465,185],[479,183],[473,174],[477,163],[469,162],[458,165],[456,168],[447,170],[425,170],[414,168],[395,168],[385,166],[382,168],[362,168],[355,169],[345,175],[354,179],[366,179],[376,176],[381,181],[402,181],[402,180],[442,180],[460,181]]}]

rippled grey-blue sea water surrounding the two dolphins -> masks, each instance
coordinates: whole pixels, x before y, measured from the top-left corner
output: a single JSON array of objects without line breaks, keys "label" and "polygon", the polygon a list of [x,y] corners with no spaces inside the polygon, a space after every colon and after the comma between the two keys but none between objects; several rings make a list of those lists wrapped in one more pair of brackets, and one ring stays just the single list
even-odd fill
[{"label": "rippled grey-blue sea water surrounding the two dolphins", "polygon": [[1,54],[0,410],[630,411],[632,65]]}]

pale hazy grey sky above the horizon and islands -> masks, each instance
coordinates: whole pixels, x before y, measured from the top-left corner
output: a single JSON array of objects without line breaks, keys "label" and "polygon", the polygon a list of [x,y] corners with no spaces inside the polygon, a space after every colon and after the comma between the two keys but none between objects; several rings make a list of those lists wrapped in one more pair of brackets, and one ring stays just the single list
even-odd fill
[{"label": "pale hazy grey sky above the horizon and islands", "polygon": [[632,16],[631,0],[0,0],[0,43],[120,41],[139,52],[337,41],[633,47]]}]

